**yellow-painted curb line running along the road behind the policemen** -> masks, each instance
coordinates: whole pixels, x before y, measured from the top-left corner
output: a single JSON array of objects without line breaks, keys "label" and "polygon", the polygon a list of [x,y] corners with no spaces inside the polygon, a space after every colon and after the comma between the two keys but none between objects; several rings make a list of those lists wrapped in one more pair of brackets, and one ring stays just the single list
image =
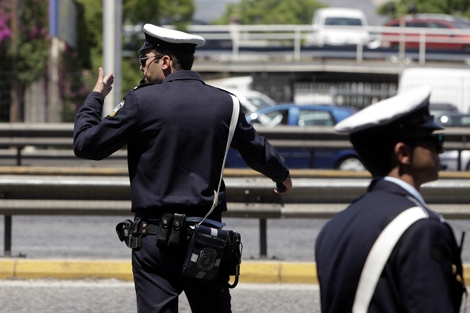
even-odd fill
[{"label": "yellow-painted curb line running along the road behind the policemen", "polygon": [[[464,265],[466,285],[470,284],[470,264]],[[114,278],[132,281],[130,260],[45,260],[11,258],[0,260],[0,280],[54,278]],[[240,282],[318,284],[314,262],[244,260]]]}]

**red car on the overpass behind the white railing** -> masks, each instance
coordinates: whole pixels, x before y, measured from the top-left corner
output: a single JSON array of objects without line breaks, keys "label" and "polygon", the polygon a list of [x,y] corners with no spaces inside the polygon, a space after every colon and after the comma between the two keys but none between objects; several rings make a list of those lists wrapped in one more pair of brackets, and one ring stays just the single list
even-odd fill
[{"label": "red car on the overpass behind the white railing", "polygon": [[[402,24],[401,24],[402,23]],[[413,17],[394,19],[385,26],[406,28],[405,48],[419,48],[422,31],[425,31],[426,49],[470,51],[470,23],[459,18]],[[427,29],[425,29],[427,28]],[[382,33],[382,46],[398,47],[400,33]]]}]

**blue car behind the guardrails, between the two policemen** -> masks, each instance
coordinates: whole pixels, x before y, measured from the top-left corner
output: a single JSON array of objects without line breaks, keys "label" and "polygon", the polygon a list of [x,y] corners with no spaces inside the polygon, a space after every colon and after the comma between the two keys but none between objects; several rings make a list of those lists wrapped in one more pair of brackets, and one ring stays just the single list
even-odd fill
[{"label": "blue car behind the guardrails, between the two policemen", "polygon": [[[246,120],[266,127],[290,125],[293,127],[334,126],[341,120],[357,112],[351,107],[332,105],[295,105],[281,104],[265,107],[246,116]],[[362,171],[364,166],[357,159],[353,149],[315,150],[313,159],[305,149],[278,149],[286,159],[290,169],[341,169]],[[226,161],[227,167],[243,168],[246,164],[238,152],[230,150]]]}]

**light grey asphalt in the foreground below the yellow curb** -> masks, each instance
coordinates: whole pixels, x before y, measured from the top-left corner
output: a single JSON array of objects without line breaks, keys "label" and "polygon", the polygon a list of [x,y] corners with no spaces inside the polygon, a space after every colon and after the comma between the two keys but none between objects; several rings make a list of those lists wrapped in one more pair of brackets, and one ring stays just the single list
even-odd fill
[{"label": "light grey asphalt in the foreground below the yellow curb", "polygon": [[[0,280],[5,313],[136,312],[132,282],[119,280]],[[320,312],[318,285],[240,284],[231,290],[233,313]],[[179,297],[179,313],[191,309]]]}]

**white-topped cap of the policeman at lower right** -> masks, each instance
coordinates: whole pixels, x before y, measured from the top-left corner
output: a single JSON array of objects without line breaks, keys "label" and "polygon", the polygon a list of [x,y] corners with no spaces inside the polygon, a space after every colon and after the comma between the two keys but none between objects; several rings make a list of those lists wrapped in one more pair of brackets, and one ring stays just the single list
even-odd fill
[{"label": "white-topped cap of the policeman at lower right", "polygon": [[431,87],[414,87],[407,92],[374,103],[335,125],[340,133],[367,129],[444,129],[429,114]]}]

